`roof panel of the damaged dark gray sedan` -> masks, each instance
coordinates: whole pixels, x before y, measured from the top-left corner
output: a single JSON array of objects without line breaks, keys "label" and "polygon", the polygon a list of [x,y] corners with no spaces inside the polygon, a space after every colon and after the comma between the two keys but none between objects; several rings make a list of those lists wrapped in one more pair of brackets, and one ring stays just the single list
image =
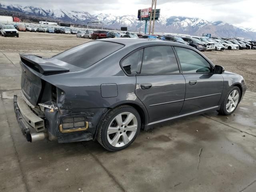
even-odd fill
[{"label": "roof panel of the damaged dark gray sedan", "polygon": [[112,39],[101,39],[97,41],[108,41],[108,42],[114,42],[114,43],[120,43],[124,44],[125,46],[133,46],[133,45],[154,45],[154,44],[168,44],[173,46],[184,46],[184,47],[190,47],[185,44],[180,44],[177,42],[169,42],[169,41],[163,41],[163,40],[156,40],[156,39],[143,39],[143,38],[112,38]]}]

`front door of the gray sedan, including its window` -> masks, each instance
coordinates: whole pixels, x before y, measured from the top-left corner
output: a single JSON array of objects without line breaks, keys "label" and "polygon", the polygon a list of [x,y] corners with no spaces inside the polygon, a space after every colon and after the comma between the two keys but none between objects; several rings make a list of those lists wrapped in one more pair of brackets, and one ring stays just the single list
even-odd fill
[{"label": "front door of the gray sedan, including its window", "polygon": [[199,53],[175,47],[182,74],[186,80],[186,96],[180,114],[218,106],[224,81],[214,74],[213,66]]}]

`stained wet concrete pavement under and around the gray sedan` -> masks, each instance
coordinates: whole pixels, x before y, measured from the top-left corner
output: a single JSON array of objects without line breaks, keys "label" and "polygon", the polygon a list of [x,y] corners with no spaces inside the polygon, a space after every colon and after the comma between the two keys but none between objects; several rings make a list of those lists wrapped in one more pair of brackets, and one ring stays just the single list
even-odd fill
[{"label": "stained wet concrete pavement under and around the gray sedan", "polygon": [[1,192],[256,191],[256,93],[246,92],[234,115],[210,112],[141,131],[120,152],[93,141],[29,143],[12,103],[19,60],[18,52],[0,52]]}]

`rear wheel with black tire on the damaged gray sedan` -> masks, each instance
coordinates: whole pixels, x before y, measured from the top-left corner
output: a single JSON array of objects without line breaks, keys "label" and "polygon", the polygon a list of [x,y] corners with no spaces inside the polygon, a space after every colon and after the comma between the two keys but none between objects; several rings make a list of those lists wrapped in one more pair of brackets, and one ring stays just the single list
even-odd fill
[{"label": "rear wheel with black tire on the damaged gray sedan", "polygon": [[[130,121],[126,123],[126,120]],[[119,106],[110,110],[100,122],[97,140],[106,150],[119,151],[132,144],[140,132],[140,126],[140,114],[135,108],[128,105]]]}]

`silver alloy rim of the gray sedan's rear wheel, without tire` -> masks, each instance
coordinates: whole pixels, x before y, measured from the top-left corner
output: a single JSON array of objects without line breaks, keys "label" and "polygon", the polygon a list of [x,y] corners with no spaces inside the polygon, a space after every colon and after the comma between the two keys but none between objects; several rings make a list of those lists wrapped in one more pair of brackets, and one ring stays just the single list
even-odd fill
[{"label": "silver alloy rim of the gray sedan's rear wheel, without tire", "polygon": [[138,120],[131,112],[118,114],[110,122],[107,130],[109,144],[114,147],[122,147],[128,144],[136,135]]}]

